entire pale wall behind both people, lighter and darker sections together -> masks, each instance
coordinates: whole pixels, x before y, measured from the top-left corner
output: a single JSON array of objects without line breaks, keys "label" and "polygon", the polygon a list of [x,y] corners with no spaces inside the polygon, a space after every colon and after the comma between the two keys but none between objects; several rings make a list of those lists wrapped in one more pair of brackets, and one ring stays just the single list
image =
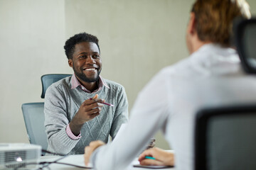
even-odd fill
[{"label": "entire pale wall behind both people, lighter and darker sections together", "polygon": [[[256,13],[256,1],[248,1]],[[0,142],[26,142],[21,104],[41,102],[41,75],[72,74],[63,45],[97,35],[102,76],[122,84],[129,109],[162,67],[188,56],[193,0],[0,0]],[[157,90],[157,89],[156,89]],[[156,146],[169,149],[161,133]]]}]

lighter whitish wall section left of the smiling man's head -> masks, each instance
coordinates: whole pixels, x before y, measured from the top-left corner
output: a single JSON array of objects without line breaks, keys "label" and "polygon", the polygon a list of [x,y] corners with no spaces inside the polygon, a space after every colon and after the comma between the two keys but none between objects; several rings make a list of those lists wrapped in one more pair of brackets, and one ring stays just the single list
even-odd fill
[{"label": "lighter whitish wall section left of the smiling man's head", "polygon": [[0,142],[28,142],[21,104],[41,100],[41,75],[69,72],[65,1],[0,1]]}]

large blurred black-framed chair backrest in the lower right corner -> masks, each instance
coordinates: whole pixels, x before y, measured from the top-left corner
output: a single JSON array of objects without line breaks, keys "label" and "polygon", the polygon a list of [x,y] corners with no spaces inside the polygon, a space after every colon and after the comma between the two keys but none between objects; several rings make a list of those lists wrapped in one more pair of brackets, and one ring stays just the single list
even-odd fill
[{"label": "large blurred black-framed chair backrest in the lower right corner", "polygon": [[256,169],[256,103],[196,115],[195,169]]}]

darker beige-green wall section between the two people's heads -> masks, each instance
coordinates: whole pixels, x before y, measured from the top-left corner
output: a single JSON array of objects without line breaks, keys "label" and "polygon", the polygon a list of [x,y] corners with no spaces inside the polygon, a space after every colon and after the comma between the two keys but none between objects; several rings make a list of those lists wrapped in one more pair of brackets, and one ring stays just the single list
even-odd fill
[{"label": "darker beige-green wall section between the two people's heads", "polygon": [[[67,38],[84,31],[97,35],[102,76],[125,87],[129,108],[156,72],[188,56],[185,30],[193,0],[65,2]],[[168,148],[159,136],[156,145]]]}]

